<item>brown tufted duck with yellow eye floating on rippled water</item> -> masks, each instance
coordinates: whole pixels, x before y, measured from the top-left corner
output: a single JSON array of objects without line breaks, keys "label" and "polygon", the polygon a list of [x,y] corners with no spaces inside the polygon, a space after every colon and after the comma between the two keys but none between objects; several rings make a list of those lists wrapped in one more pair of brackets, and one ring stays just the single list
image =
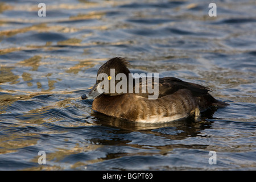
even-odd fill
[{"label": "brown tufted duck with yellow eye floating on rippled water", "polygon": [[[92,110],[98,113],[143,123],[172,122],[188,117],[200,121],[201,113],[210,107],[229,105],[211,96],[209,88],[179,78],[133,77],[127,68],[129,65],[123,57],[106,61],[98,69],[96,84],[81,96],[82,100],[93,100]],[[150,86],[151,92],[143,90]]]}]

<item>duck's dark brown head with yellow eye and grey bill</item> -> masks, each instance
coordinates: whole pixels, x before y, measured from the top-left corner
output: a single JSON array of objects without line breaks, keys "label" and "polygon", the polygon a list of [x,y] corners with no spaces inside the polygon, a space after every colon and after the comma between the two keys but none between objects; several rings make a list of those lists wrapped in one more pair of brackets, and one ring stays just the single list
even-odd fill
[{"label": "duck's dark brown head with yellow eye and grey bill", "polygon": [[98,69],[96,84],[88,94],[82,95],[82,100],[94,99],[101,94],[106,94],[109,96],[123,94],[119,93],[116,89],[113,90],[113,86],[115,88],[123,77],[126,77],[126,81],[128,82],[130,71],[127,68],[127,65],[129,65],[128,61],[122,57],[114,57],[103,64],[100,69]]}]

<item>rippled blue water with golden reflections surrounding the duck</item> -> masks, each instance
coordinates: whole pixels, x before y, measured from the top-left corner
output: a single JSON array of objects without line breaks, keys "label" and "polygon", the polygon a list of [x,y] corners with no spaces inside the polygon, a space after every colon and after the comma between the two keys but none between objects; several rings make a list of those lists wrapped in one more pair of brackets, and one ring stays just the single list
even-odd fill
[{"label": "rippled blue water with golden reflections surrounding the duck", "polygon": [[[214,1],[217,17],[211,1],[40,2],[0,3],[1,170],[256,169],[255,1]],[[161,125],[93,113],[81,95],[115,56],[230,106]]]}]

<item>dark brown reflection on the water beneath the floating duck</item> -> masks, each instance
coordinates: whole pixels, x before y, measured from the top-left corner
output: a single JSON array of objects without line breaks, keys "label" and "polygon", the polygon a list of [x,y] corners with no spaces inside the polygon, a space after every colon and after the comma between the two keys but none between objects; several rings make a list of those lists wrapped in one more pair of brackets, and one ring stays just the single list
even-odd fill
[{"label": "dark brown reflection on the water beneath the floating duck", "polygon": [[[168,139],[181,140],[187,137],[197,137],[201,130],[209,129],[212,124],[213,114],[217,109],[212,107],[202,113],[202,120],[195,121],[194,118],[182,119],[179,121],[164,123],[139,123],[126,119],[109,117],[108,115],[93,111],[92,116],[96,118],[95,123],[101,126],[114,127],[119,132],[139,131],[142,133],[152,133],[161,135]],[[208,121],[210,119],[210,121]],[[166,131],[165,131],[166,129]],[[170,129],[173,131],[170,132]],[[160,132],[159,132],[160,131]]]}]

